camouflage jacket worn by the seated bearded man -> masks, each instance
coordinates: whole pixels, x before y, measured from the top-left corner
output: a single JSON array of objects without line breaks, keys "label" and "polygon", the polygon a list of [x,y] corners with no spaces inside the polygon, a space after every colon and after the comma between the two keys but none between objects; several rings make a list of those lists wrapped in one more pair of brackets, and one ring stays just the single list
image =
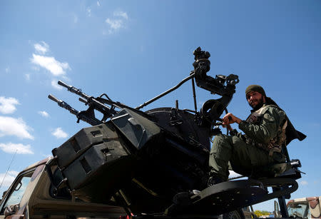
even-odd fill
[{"label": "camouflage jacket worn by the seated bearded man", "polygon": [[252,111],[245,121],[239,124],[245,133],[245,141],[269,151],[270,156],[280,152],[285,144],[285,128],[287,116],[284,111],[274,105],[263,105],[257,111]]}]

